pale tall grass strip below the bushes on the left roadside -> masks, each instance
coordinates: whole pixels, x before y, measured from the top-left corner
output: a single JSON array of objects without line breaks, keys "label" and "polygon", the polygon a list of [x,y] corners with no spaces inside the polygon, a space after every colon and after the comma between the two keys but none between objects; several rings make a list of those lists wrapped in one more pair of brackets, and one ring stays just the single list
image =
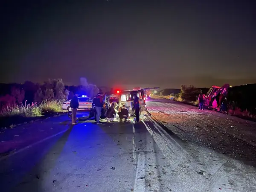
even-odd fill
[{"label": "pale tall grass strip below the bushes on the left roadside", "polygon": [[46,113],[58,113],[62,111],[61,101],[45,101],[40,105],[26,105],[17,106],[15,108],[8,108],[6,111],[2,112],[1,116],[26,116],[26,117],[36,117],[43,116]]}]

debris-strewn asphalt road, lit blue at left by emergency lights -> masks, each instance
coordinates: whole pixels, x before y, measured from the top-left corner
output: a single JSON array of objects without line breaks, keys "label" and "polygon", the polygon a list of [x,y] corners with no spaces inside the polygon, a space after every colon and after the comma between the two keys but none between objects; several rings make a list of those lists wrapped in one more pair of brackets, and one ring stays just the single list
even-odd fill
[{"label": "debris-strewn asphalt road, lit blue at left by emergency lights", "polygon": [[147,107],[138,124],[59,116],[6,130],[1,192],[256,191],[255,123],[165,99]]}]

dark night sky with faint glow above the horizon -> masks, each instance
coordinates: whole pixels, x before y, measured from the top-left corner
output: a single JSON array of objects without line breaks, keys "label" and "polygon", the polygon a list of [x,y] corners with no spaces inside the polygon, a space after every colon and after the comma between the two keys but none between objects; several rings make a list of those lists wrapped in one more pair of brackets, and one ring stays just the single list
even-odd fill
[{"label": "dark night sky with faint glow above the horizon", "polygon": [[71,85],[80,77],[108,87],[256,83],[253,0],[6,2],[1,83],[62,78]]}]

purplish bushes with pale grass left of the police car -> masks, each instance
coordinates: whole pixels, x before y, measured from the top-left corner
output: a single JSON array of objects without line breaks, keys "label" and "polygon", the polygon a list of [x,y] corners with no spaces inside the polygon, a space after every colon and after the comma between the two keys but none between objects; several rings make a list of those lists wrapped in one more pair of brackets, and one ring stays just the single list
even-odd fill
[{"label": "purplish bushes with pale grass left of the police car", "polygon": [[0,116],[37,117],[59,113],[68,95],[62,79],[51,79],[43,85],[27,83],[13,86],[10,94],[0,97]]}]

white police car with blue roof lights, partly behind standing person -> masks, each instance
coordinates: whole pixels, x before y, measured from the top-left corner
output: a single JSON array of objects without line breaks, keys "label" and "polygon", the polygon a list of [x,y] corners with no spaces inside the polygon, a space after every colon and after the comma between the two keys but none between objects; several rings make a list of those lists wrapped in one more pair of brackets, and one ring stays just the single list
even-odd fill
[{"label": "white police car with blue roof lights, partly behind standing person", "polygon": [[[78,97],[78,100],[79,100],[78,110],[90,110],[92,108],[93,99],[91,99],[90,97],[83,95],[81,97]],[[71,112],[70,101],[71,99],[66,102],[63,102],[62,110],[67,110]]]}]

